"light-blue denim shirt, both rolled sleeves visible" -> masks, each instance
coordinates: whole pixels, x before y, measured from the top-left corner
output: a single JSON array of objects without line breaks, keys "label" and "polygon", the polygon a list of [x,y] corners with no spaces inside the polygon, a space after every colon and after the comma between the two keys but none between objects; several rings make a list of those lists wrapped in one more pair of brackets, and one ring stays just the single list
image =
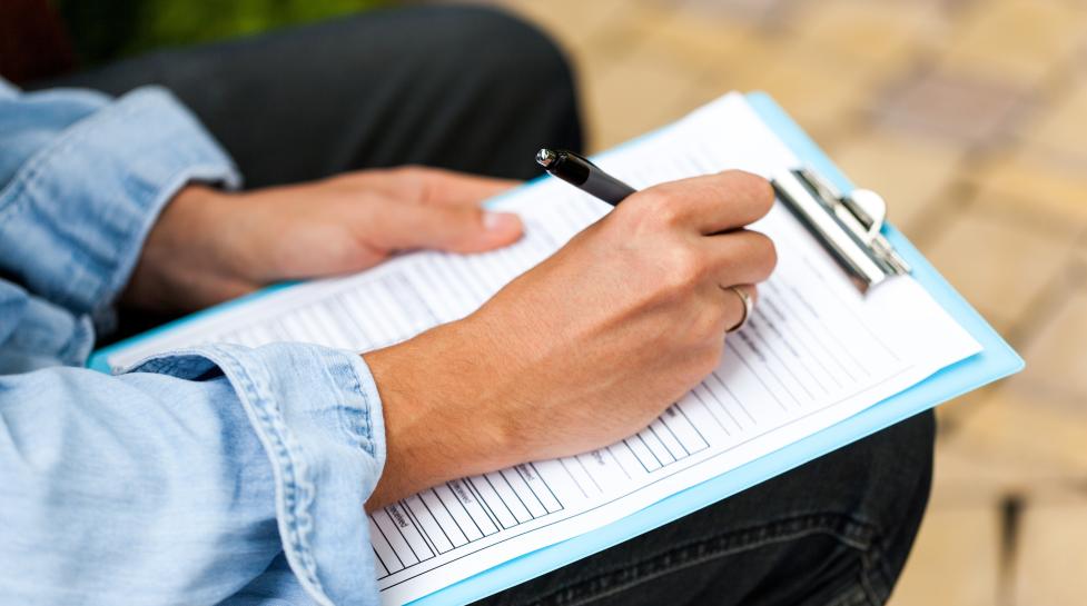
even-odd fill
[{"label": "light-blue denim shirt, both rolled sleeves visible", "polygon": [[357,352],[82,368],[148,230],[230,161],[167,91],[0,80],[0,604],[377,604],[385,461]]}]

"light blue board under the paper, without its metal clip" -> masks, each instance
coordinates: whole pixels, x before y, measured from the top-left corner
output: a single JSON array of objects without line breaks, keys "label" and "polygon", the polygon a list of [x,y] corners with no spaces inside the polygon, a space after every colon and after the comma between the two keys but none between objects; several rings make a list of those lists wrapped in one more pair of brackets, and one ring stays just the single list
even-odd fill
[{"label": "light blue board under the paper, without its metal clip", "polygon": [[[755,112],[762,118],[792,151],[816,171],[830,179],[842,191],[852,185],[830,158],[808,138],[801,128],[782,110],[778,103],[763,92],[747,96]],[[652,137],[649,135],[648,137]],[[953,364],[910,389],[892,396],[876,406],[808,436],[780,450],[755,459],[732,471],[672,495],[634,515],[603,528],[537,549],[501,566],[464,579],[444,589],[412,603],[412,606],[451,606],[467,604],[560,568],[585,556],[606,549],[629,538],[648,533],[669,521],[701,509],[728,496],[734,495],[760,481],[772,478],[822,456],[831,450],[879,431],[885,427],[927,410],[951,398],[977,389],[1022,369],[1022,359],[1007,342],[955,291],[942,276],[921,256],[913,245],[897,229],[885,226],[883,235],[895,245],[898,252],[913,267],[913,277],[932,295],[974,338],[982,350],[965,360]],[[289,285],[287,285],[289,286]],[[100,349],[88,366],[108,371],[107,357],[120,348],[129,347],[179,324],[191,321],[208,314],[216,314],[224,307],[245,305],[261,297],[273,287],[243,297],[200,314],[182,318],[150,332],[145,332],[126,341]]]}]

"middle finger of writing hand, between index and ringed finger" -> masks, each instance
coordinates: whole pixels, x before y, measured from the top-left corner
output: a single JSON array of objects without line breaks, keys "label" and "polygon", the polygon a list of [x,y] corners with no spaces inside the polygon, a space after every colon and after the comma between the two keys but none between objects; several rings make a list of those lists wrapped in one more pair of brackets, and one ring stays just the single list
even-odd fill
[{"label": "middle finger of writing hand, between index and ringed finger", "polygon": [[770,277],[778,252],[767,235],[750,229],[700,238],[719,286],[758,284]]}]

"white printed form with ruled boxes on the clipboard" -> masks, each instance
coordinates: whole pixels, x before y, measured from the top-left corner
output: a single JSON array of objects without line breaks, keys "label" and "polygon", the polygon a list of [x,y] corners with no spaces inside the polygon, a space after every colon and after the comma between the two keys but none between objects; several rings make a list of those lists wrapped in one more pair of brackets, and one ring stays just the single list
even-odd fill
[{"label": "white printed form with ruled boxes on the clipboard", "polygon": [[[601,166],[635,188],[796,158],[744,98],[725,96]],[[722,200],[728,203],[728,200]],[[356,351],[464,317],[610,207],[555,179],[493,201],[526,225],[481,255],[416,252],[346,278],[283,289],[110,356],[118,368],[176,347],[309,341]],[[721,366],[639,434],[599,450],[435,486],[370,516],[383,604],[425,596],[599,528],[829,427],[980,350],[912,278],[861,296],[778,205],[754,229],[779,265]]]}]

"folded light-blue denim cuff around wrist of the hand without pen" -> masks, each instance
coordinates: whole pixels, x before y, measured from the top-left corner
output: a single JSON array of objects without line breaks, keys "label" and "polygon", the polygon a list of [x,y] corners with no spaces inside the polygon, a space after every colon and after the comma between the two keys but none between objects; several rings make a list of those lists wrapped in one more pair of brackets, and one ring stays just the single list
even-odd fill
[{"label": "folded light-blue denim cuff around wrist of the hand without pen", "polygon": [[137,89],[66,129],[0,190],[0,265],[32,292],[100,317],[190,181],[238,187],[240,177],[172,95]]}]

